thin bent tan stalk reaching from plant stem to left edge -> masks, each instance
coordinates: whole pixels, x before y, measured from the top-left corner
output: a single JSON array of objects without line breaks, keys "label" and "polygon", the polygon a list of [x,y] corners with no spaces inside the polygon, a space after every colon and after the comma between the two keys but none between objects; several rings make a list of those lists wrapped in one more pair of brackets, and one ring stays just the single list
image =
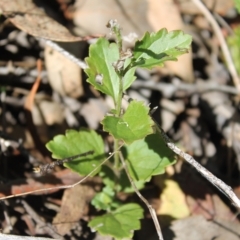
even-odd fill
[{"label": "thin bent tan stalk reaching from plant stem to left edge", "polygon": [[94,168],[89,174],[87,174],[84,178],[82,178],[81,180],[79,180],[78,182],[74,183],[74,184],[69,184],[69,185],[63,185],[63,186],[57,186],[57,187],[51,187],[51,188],[43,188],[43,189],[37,189],[37,190],[33,190],[33,191],[29,191],[29,192],[25,192],[25,193],[18,193],[18,194],[12,194],[9,196],[5,196],[5,197],[0,197],[0,200],[4,200],[4,199],[8,199],[8,198],[14,198],[14,197],[20,197],[20,196],[25,196],[25,195],[29,195],[29,194],[34,194],[37,192],[47,192],[47,191],[51,191],[51,190],[56,190],[56,189],[66,189],[66,188],[73,188],[76,185],[82,183],[83,181],[85,181],[88,177],[90,177],[99,167],[101,167],[105,162],[107,162],[116,152],[118,152],[121,147],[123,146],[123,144],[114,152],[109,154],[109,157],[106,158],[103,162],[101,162],[96,168]]}]

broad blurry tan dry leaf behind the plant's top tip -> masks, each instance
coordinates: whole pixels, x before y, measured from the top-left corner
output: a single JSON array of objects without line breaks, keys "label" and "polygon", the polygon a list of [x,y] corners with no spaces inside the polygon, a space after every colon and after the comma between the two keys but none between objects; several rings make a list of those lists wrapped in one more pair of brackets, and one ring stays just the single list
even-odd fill
[{"label": "broad blurry tan dry leaf behind the plant's top tip", "polygon": [[117,19],[123,35],[134,32],[140,37],[145,31],[151,30],[146,19],[147,7],[146,0],[77,0],[73,16],[75,32],[78,35],[108,34],[106,24],[110,19]]}]

